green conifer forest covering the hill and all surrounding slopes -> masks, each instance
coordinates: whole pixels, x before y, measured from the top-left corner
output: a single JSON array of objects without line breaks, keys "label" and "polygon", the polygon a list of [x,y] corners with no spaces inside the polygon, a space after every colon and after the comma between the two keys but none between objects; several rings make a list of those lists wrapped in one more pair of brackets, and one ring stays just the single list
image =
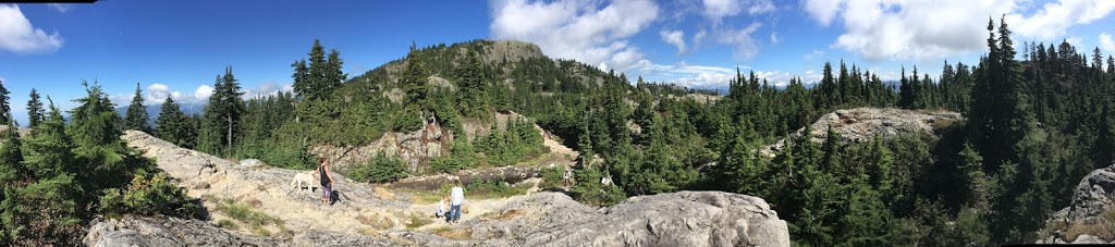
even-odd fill
[{"label": "green conifer forest covering the hill and all surrounding slopes", "polygon": [[[724,190],[765,198],[803,246],[1031,243],[1082,177],[1115,161],[1115,60],[1108,56],[1103,68],[1098,49],[1088,56],[1068,42],[1016,45],[1001,21],[996,28],[989,20],[988,31],[988,53],[977,65],[944,62],[937,78],[911,66],[895,88],[856,65],[826,62],[812,88],[793,79],[779,89],[739,71],[723,98],[553,60],[518,41],[411,45],[406,58],[349,78],[340,51],[327,52],[314,41],[308,58],[291,65],[293,92],[243,100],[230,67],[215,79],[203,115],[182,113],[167,99],[149,130],[217,156],[310,168],[316,165],[307,151],[312,146],[367,145],[432,119],[459,137],[442,158],[427,160],[433,169],[420,172],[453,172],[537,156],[541,137],[530,125],[536,124],[580,151],[571,196],[582,202]],[[114,106],[101,100],[104,93],[96,86],[88,90],[89,97],[78,101],[89,107],[70,111],[74,120],[62,122],[50,107],[48,117],[32,117],[32,135],[8,134],[0,175],[19,182],[3,185],[0,244],[59,237],[55,231],[66,228],[55,225],[72,227],[96,213],[129,208],[115,207],[122,204],[164,207],[129,202],[128,192],[118,190],[127,181],[162,182],[158,175],[147,175],[153,171],[133,171],[151,165],[117,138],[125,128],[146,128],[128,120],[142,116],[110,117],[104,112]],[[961,112],[967,121],[942,124],[939,135],[878,136],[864,142],[844,141],[832,130],[823,144],[807,135],[789,138],[823,113],[856,107],[943,109]],[[510,111],[527,121],[462,138],[465,122],[491,125],[496,112]],[[775,157],[757,152],[784,138],[791,145]],[[358,169],[368,172],[353,178],[391,181],[415,175],[399,166],[377,158]],[[83,177],[91,176],[78,172],[83,169],[100,169],[96,174],[108,178]],[[601,177],[611,177],[614,186],[601,186]],[[99,204],[91,195],[100,196]],[[20,201],[46,209],[31,211],[32,205]]]}]

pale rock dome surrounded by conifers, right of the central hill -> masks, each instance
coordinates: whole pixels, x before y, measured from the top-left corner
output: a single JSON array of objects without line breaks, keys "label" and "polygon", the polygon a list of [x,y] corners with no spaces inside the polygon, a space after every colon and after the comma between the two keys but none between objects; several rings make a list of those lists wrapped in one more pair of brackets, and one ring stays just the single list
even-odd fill
[{"label": "pale rock dome surrounded by conifers, right of the central hill", "polygon": [[[851,142],[867,141],[875,135],[883,138],[909,132],[937,134],[940,127],[951,126],[963,121],[964,118],[958,112],[944,110],[906,110],[896,108],[870,108],[862,107],[855,109],[836,110],[821,116],[817,121],[809,125],[811,132],[805,134],[805,128],[791,134],[792,138],[809,135],[813,142],[824,142],[828,137],[828,126]],[[760,152],[773,156],[786,146],[786,140],[779,140],[774,145],[765,146]]]}]

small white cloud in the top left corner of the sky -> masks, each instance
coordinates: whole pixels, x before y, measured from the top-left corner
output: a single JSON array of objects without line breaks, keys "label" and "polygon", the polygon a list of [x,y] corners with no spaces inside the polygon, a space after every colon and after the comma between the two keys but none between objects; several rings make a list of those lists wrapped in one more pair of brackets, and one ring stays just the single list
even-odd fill
[{"label": "small white cloud in the top left corner of the sky", "polygon": [[52,52],[62,46],[62,37],[48,34],[31,26],[16,4],[0,4],[0,49],[16,53]]}]

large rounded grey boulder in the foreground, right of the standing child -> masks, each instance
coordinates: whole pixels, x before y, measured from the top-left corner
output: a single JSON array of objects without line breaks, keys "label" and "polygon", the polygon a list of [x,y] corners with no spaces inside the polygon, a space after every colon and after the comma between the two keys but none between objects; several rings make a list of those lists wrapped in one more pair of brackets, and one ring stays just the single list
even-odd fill
[{"label": "large rounded grey boulder in the foreground, right of the standing child", "polygon": [[786,221],[765,200],[729,192],[632,197],[601,209],[543,192],[502,214],[512,216],[476,223],[473,238],[496,246],[789,246]]}]

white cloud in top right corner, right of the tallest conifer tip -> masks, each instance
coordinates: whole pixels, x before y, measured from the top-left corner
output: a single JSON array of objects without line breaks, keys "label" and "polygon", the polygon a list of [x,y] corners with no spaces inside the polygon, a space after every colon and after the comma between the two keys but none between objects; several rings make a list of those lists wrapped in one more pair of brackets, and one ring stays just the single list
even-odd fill
[{"label": "white cloud in top right corner, right of the tallest conifer tip", "polygon": [[1007,23],[1015,33],[1051,41],[1064,36],[1069,27],[1103,19],[1113,10],[1115,1],[1112,0],[1060,0],[1046,3],[1029,17],[1007,14]]}]

